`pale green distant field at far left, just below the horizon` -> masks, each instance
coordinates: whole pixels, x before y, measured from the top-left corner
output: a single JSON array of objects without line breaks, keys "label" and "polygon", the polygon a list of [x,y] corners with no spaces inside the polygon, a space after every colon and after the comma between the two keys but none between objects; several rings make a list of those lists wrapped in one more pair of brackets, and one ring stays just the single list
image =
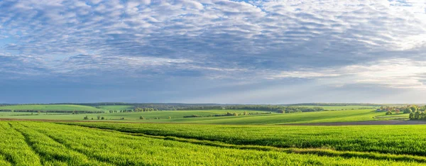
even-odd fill
[{"label": "pale green distant field at far left, just below the horizon", "polygon": [[104,109],[97,109],[93,106],[80,106],[72,104],[52,104],[52,105],[13,105],[13,106],[0,106],[0,110],[13,110],[13,111],[105,111]]}]

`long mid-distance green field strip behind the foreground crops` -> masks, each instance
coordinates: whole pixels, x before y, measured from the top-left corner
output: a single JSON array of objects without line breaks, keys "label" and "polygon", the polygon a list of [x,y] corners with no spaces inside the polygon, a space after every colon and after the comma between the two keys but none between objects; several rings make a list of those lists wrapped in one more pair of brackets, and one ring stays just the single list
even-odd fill
[{"label": "long mid-distance green field strip behind the foreground crops", "polygon": [[[200,117],[183,118],[183,116],[198,115],[211,116],[214,114],[226,114],[226,112],[243,114],[244,110],[191,110],[191,111],[150,111],[150,112],[131,112],[131,113],[113,113],[113,114],[62,114],[38,116],[8,116],[3,115],[0,118],[24,118],[24,119],[48,119],[48,120],[83,120],[84,116],[89,119],[97,119],[97,116],[104,116],[104,121],[128,121],[143,123],[211,123],[211,124],[283,124],[283,123],[319,123],[319,122],[344,122],[344,121],[376,121],[375,116],[385,116],[384,112],[376,112],[372,109],[366,110],[344,110],[344,111],[318,111],[291,114],[265,114],[266,111],[246,111],[253,115],[249,116],[219,116],[219,117]],[[0,115],[2,113],[0,112]],[[140,116],[145,118],[139,119]],[[170,119],[169,119],[170,116]],[[404,115],[405,116],[405,115]],[[124,118],[124,120],[121,120]],[[159,118],[159,119],[155,119]],[[389,118],[381,118],[387,120]]]}]

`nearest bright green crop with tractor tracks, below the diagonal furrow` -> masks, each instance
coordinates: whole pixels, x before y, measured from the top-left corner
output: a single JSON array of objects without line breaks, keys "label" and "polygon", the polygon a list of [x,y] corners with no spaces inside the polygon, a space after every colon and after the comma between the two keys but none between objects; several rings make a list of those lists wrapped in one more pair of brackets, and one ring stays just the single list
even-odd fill
[{"label": "nearest bright green crop with tractor tracks, below the diagonal furrow", "polygon": [[372,159],[241,149],[45,122],[0,121],[0,127],[5,136],[0,163],[5,165],[425,165],[424,158],[414,156],[376,154]]}]

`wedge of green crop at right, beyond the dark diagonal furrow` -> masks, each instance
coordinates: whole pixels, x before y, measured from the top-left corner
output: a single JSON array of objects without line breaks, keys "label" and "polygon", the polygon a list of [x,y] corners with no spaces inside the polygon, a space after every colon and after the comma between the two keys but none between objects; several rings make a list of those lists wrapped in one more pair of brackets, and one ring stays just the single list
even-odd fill
[{"label": "wedge of green crop at right, beyond the dark diagonal furrow", "polygon": [[325,148],[426,156],[426,126],[234,126],[160,123],[72,123],[126,133],[275,148]]}]

